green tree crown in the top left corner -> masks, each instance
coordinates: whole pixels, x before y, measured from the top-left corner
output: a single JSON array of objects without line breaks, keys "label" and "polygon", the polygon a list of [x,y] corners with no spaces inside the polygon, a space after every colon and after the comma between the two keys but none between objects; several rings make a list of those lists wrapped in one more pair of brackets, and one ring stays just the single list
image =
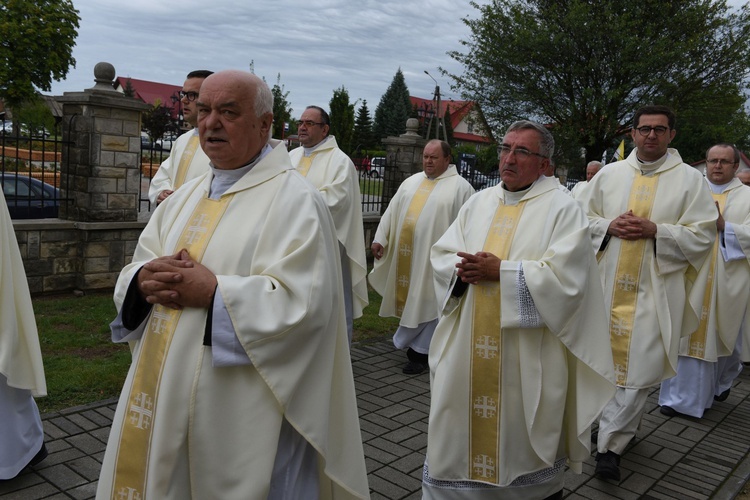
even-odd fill
[{"label": "green tree crown in the top left corner", "polygon": [[70,0],[3,0],[0,5],[0,98],[11,109],[49,92],[75,67],[78,11]]}]

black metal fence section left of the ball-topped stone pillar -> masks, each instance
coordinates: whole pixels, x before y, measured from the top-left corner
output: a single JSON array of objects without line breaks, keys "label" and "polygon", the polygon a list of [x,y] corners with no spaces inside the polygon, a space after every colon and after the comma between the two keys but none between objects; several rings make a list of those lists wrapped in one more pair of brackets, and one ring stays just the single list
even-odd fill
[{"label": "black metal fence section left of the ball-topped stone pillar", "polygon": [[0,181],[11,218],[56,218],[60,204],[68,201],[60,188],[67,188],[68,179],[61,175],[61,167],[63,149],[70,144],[61,139],[61,126],[53,131],[29,132],[9,122],[3,125]]}]

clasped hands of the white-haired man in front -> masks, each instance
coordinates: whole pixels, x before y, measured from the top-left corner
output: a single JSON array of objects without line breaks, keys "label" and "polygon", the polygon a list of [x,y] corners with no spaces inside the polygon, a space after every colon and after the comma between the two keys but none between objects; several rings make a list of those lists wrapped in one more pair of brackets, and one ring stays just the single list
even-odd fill
[{"label": "clasped hands of the white-haired man in front", "polygon": [[171,309],[209,307],[218,283],[216,275],[185,249],[146,263],[137,279],[146,302]]}]

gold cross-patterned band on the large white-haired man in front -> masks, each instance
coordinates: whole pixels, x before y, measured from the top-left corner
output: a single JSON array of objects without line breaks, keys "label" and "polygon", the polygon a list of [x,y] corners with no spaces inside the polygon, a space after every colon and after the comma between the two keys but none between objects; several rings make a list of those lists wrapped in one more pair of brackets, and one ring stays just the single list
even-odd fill
[{"label": "gold cross-patterned band on the large white-haired man in front", "polygon": [[[177,248],[185,248],[201,261],[216,226],[233,195],[219,200],[204,198],[182,230]],[[181,310],[155,305],[141,342],[140,356],[120,431],[112,498],[145,499],[153,415],[157,410],[159,381]],[[200,341],[200,339],[197,339]]]}]

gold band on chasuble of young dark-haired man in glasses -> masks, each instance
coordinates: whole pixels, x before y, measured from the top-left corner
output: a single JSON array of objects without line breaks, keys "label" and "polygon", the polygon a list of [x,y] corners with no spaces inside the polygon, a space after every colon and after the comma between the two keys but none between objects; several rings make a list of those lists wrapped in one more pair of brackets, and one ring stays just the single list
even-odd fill
[{"label": "gold band on chasuble of young dark-haired man in glasses", "polygon": [[[628,207],[634,215],[646,219],[651,218],[658,183],[658,174],[649,177],[636,174],[628,200]],[[624,386],[628,379],[630,339],[633,333],[646,243],[646,239],[620,240],[620,255],[617,259],[615,286],[612,290],[612,312],[609,325],[612,357],[615,362],[615,383],[619,386]]]}]

